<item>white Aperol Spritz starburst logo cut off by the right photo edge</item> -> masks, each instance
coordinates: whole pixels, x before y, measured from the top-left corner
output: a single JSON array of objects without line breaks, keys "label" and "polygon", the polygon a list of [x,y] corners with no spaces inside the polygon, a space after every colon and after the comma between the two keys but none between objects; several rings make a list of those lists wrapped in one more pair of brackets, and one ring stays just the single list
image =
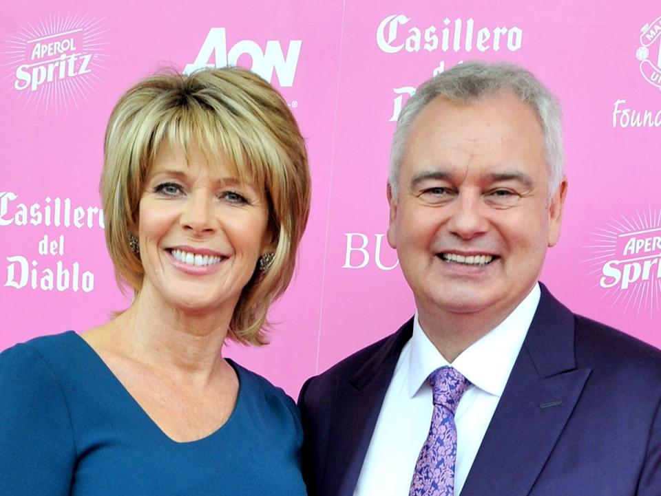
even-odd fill
[{"label": "white Aperol Spritz starburst logo cut off by the right photo edge", "polygon": [[590,234],[587,276],[601,298],[624,312],[661,313],[661,209],[620,215]]}]

